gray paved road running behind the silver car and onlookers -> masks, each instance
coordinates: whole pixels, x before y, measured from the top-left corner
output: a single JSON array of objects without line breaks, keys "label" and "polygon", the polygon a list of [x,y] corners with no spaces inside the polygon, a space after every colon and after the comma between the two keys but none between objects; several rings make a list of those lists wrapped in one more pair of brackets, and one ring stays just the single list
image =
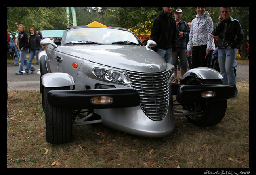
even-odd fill
[{"label": "gray paved road running behind the silver car and onlookers", "polygon": [[[33,64],[39,71],[39,65]],[[24,70],[26,66],[24,66]],[[237,69],[237,81],[250,81],[250,65],[238,65]],[[8,82],[7,90],[40,90],[39,87],[39,74],[38,71],[30,73],[28,75],[15,75],[19,70],[19,66],[13,66],[11,64],[6,65],[6,78]],[[178,71],[178,77],[180,71]]]}]

